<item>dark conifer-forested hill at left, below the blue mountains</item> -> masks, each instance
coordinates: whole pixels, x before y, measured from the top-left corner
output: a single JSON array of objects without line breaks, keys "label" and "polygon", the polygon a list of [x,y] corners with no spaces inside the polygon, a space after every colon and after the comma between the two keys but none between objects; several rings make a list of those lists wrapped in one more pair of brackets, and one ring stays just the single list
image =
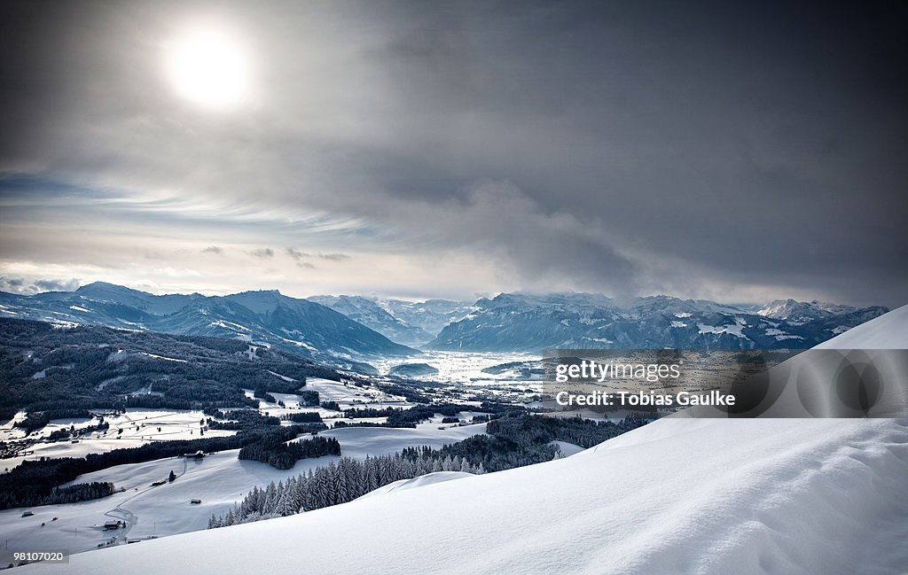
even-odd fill
[{"label": "dark conifer-forested hill at left, below the blue mountains", "polygon": [[[256,407],[243,389],[299,394],[306,378],[338,373],[276,349],[219,337],[101,326],[66,329],[0,317],[0,416],[73,409]],[[288,379],[290,381],[288,381]],[[31,424],[30,424],[31,425]]]}]

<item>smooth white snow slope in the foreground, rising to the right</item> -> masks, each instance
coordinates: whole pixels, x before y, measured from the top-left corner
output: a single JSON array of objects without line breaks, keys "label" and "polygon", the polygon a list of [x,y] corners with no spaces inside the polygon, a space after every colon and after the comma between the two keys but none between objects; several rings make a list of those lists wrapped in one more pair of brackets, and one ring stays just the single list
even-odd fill
[{"label": "smooth white snow slope in the foreground, rising to the right", "polygon": [[[899,346],[905,309],[848,346]],[[903,573],[905,477],[904,421],[667,418],[550,463],[22,571]]]}]

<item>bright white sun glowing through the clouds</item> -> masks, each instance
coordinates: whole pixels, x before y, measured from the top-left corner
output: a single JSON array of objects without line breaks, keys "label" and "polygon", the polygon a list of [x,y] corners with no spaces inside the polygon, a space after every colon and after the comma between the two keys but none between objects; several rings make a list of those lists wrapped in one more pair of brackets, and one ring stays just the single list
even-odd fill
[{"label": "bright white sun glowing through the clouds", "polygon": [[249,63],[227,34],[200,31],[166,45],[166,71],[173,89],[202,107],[229,109],[249,93]]}]

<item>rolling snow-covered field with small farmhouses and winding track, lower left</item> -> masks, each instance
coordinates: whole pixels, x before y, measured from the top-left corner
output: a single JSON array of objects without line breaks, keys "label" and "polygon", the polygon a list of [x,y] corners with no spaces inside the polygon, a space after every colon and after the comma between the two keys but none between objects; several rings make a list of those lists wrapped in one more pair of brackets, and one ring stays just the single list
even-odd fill
[{"label": "rolling snow-covered field with small farmhouses and winding track, lower left", "polygon": [[[336,437],[343,455],[363,458],[366,454],[399,452],[411,445],[441,447],[484,433],[484,424],[452,426],[444,430],[440,430],[438,424],[421,424],[417,429],[348,427],[321,434]],[[279,482],[339,459],[334,456],[303,459],[290,470],[277,470],[266,463],[240,461],[238,452],[213,453],[201,461],[172,457],[81,475],[74,483],[114,482],[126,491],[91,502],[28,508],[27,511],[35,513],[32,517],[22,517],[25,508],[0,512],[0,541],[5,541],[7,548],[0,550],[0,560],[9,562],[5,551],[15,549],[54,548],[79,552],[94,550],[99,542],[110,541],[114,535],[120,541],[127,538],[132,541],[148,539],[152,535],[161,537],[205,529],[212,514],[227,512],[252,487]],[[178,476],[175,482],[157,487],[151,485],[166,478],[171,470]],[[192,504],[192,499],[202,502]],[[54,517],[57,521],[53,521]],[[128,532],[105,533],[93,527],[110,519],[128,519]]]}]

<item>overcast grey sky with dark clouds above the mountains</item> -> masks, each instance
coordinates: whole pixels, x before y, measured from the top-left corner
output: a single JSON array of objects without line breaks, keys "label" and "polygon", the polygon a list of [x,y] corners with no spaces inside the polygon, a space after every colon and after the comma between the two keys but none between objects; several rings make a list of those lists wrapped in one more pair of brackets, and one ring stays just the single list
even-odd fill
[{"label": "overcast grey sky with dark clouds above the mountains", "polygon": [[791,4],[5,2],[0,290],[908,303],[908,5]]}]

